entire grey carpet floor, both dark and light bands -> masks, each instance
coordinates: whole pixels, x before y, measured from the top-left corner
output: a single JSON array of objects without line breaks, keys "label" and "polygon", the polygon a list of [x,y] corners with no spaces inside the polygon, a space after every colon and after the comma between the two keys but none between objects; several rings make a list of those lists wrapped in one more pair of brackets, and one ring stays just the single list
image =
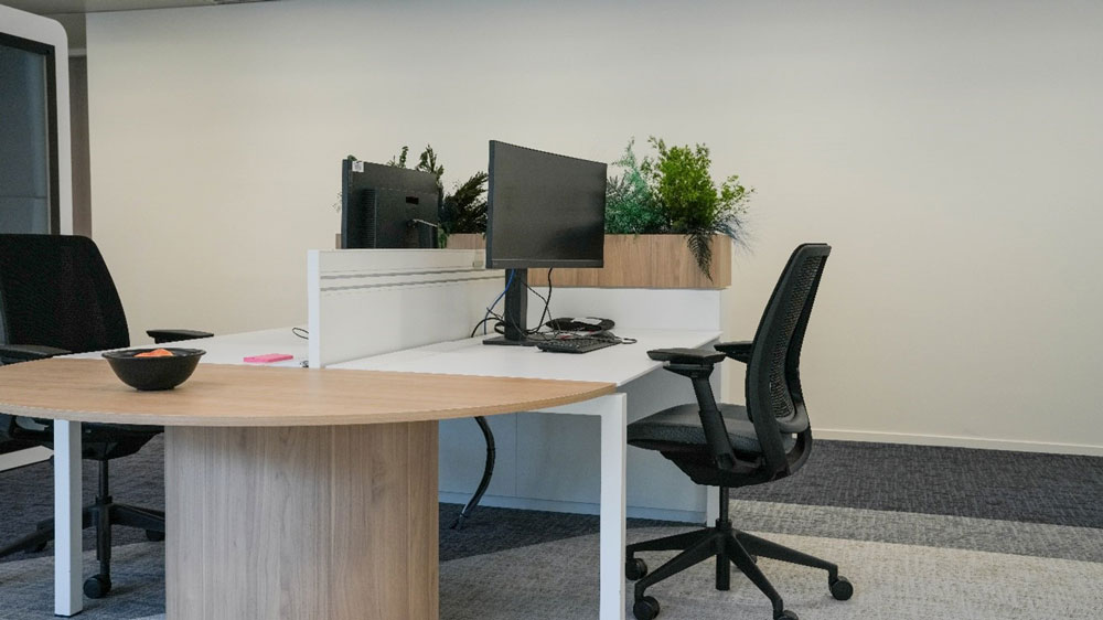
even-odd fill
[{"label": "entire grey carpet floor, both dark and light bands", "polygon": [[[163,506],[162,450],[156,439],[113,463],[117,500]],[[0,541],[51,516],[51,482],[49,463],[0,472]],[[95,489],[89,463],[85,488]],[[733,498],[738,527],[837,562],[855,582],[855,598],[840,603],[822,574],[763,560],[803,620],[1103,620],[1103,458],[820,441],[797,475]],[[462,532],[447,530],[458,509],[440,509],[441,618],[595,617],[597,517],[480,509]],[[640,539],[684,525],[630,527]],[[81,618],[163,618],[163,545],[129,528],[116,530],[116,589],[86,599]],[[0,620],[52,617],[51,566],[42,554],[0,560]],[[94,571],[86,554],[85,574]],[[661,618],[769,618],[749,582],[735,577],[732,591],[716,592],[710,571],[651,590]]]}]

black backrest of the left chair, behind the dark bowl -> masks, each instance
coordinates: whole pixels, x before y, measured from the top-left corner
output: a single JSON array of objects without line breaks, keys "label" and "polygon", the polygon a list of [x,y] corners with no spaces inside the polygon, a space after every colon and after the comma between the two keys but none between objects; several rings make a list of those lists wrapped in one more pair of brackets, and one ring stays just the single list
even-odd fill
[{"label": "black backrest of the left chair, behind the dark bowl", "polygon": [[92,239],[0,235],[0,343],[74,353],[130,345],[118,290]]}]

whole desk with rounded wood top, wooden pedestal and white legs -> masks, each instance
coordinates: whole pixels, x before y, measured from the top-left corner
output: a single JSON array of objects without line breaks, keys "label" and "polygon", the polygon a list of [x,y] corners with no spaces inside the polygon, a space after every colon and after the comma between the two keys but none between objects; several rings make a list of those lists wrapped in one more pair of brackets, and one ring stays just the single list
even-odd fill
[{"label": "whole desk with rounded wood top, wooden pedestal and white legs", "polygon": [[[113,375],[106,361],[79,359],[99,357],[98,353],[4,366],[0,368],[0,410],[71,421],[170,427],[165,450],[167,472],[170,472],[167,507],[173,515],[168,522],[167,549],[170,620],[206,620],[213,609],[231,613],[226,617],[267,620],[276,616],[256,610],[271,606],[272,609],[314,606],[318,613],[308,614],[341,619],[363,619],[366,611],[374,610],[374,616],[367,617],[435,620],[438,614],[433,450],[437,438],[436,425],[419,420],[549,407],[563,413],[598,415],[601,419],[600,618],[621,620],[628,417],[625,395],[614,392],[661,365],[646,356],[649,349],[700,346],[718,338],[719,332],[624,330],[621,335],[636,338],[639,342],[585,355],[564,355],[528,348],[483,346],[481,339],[468,339],[375,355],[325,370],[307,370],[296,367],[306,357],[304,341],[290,329],[265,330],[195,341],[194,345],[208,353],[194,376],[171,392],[135,392]],[[296,360],[268,367],[250,367],[242,361],[244,356],[264,353],[289,353]],[[324,430],[336,426],[342,427],[341,432]],[[319,427],[322,431],[315,430]],[[78,427],[68,421],[55,424],[54,434],[58,534],[55,613],[72,616],[82,607],[81,443]],[[283,455],[290,438],[298,446],[293,453],[265,460],[266,456]],[[276,441],[278,449],[254,449],[271,441]],[[384,452],[388,458],[365,460],[364,457]],[[311,459],[304,455],[324,458]],[[214,464],[204,469],[211,463]],[[229,475],[225,468],[234,463],[244,469],[233,470],[236,473]],[[329,466],[317,467],[319,463]],[[405,482],[381,482],[399,479]],[[309,482],[288,485],[287,480]],[[275,495],[246,492],[276,487],[281,492]],[[318,489],[350,501],[319,503]],[[372,495],[388,489],[403,492],[386,498]],[[365,490],[372,492],[365,495]],[[260,503],[242,512],[243,496]],[[352,501],[357,498],[374,500]],[[268,506],[264,502],[276,504]],[[297,515],[300,522],[283,523],[282,527],[317,534],[315,537],[321,536],[318,545],[308,549],[298,543],[297,536],[278,535],[280,528],[258,539],[253,520],[272,511]],[[416,519],[410,516],[415,513]],[[231,520],[234,527],[229,527],[225,520],[238,514],[240,519]],[[203,525],[207,521],[213,525]],[[185,531],[196,523],[204,535]],[[319,526],[326,523],[358,525],[335,533]],[[381,532],[366,525],[371,523],[390,526],[381,536]],[[212,538],[214,534],[219,537]],[[339,538],[342,544],[334,545]],[[357,542],[350,545],[350,539]],[[405,541],[405,546],[390,545],[394,541]],[[318,549],[341,549],[343,555],[313,553]],[[394,553],[386,555],[384,552],[388,549]],[[328,587],[318,591],[272,589],[271,579],[253,578],[255,569],[249,563],[261,556],[293,558],[281,565],[281,570],[298,574],[307,567],[310,578],[318,577],[314,567],[326,566],[322,584]],[[371,566],[362,567],[366,571],[336,568],[361,566],[364,558],[374,558]],[[396,569],[396,565],[401,566]],[[225,573],[212,567],[222,567]],[[388,581],[387,587],[408,590],[411,592],[408,600],[375,596],[375,590],[366,585],[374,582],[372,576],[376,571],[405,576],[400,582]],[[240,581],[243,574],[250,578]],[[307,575],[302,577],[306,579]],[[343,613],[319,611],[332,610],[339,601],[344,601]],[[233,605],[253,606],[248,609],[255,608],[256,612],[235,614]]]}]

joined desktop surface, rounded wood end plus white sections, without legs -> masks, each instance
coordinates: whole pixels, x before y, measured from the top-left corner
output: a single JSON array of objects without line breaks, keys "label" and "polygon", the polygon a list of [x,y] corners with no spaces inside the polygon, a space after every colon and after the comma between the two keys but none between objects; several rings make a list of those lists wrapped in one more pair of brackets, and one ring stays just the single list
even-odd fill
[{"label": "joined desktop surface, rounded wood end plus white sections, without legs", "polygon": [[[578,403],[658,365],[649,349],[698,346],[719,334],[638,330],[635,344],[582,355],[484,346],[481,338],[430,344],[334,364],[298,366],[301,339],[290,329],[195,341],[207,351],[195,374],[168,392],[139,393],[114,376],[98,353],[6,366],[0,410],[74,421],[162,426],[318,426],[450,419]],[[296,355],[290,363],[246,365],[246,355]]]}]

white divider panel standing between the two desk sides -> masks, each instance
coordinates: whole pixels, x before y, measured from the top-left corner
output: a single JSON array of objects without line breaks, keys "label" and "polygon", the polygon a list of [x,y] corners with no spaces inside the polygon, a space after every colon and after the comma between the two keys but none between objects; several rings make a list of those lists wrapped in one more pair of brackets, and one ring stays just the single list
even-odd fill
[{"label": "white divider panel standing between the two desk sides", "polygon": [[310,250],[310,367],[467,338],[504,285],[481,249]]}]

